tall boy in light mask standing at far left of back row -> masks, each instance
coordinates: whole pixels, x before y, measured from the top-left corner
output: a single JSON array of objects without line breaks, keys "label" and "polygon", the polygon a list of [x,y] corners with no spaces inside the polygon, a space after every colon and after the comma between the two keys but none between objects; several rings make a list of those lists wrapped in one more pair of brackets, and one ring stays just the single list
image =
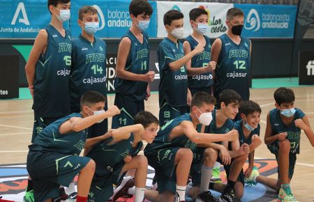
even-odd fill
[{"label": "tall boy in light mask standing at far left of back row", "polygon": [[[31,142],[47,125],[70,114],[68,84],[72,42],[63,22],[70,19],[70,0],[48,0],[51,22],[41,29],[25,65],[33,96],[34,124]],[[33,201],[29,180],[24,201]]]}]

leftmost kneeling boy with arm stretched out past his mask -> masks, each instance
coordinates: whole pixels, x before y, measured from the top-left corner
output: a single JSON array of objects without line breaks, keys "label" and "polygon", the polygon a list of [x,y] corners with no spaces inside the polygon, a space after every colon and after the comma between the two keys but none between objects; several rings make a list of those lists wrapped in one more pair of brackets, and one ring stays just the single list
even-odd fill
[{"label": "leftmost kneeling boy with arm stretched out past his mask", "polygon": [[59,196],[59,186],[68,186],[79,173],[77,202],[87,201],[94,176],[95,162],[89,157],[79,157],[84,148],[85,129],[104,118],[119,114],[111,107],[101,114],[91,109],[105,107],[105,97],[95,91],[82,95],[81,112],[59,118],[40,132],[29,146],[27,171],[33,179],[35,201],[51,201]]}]

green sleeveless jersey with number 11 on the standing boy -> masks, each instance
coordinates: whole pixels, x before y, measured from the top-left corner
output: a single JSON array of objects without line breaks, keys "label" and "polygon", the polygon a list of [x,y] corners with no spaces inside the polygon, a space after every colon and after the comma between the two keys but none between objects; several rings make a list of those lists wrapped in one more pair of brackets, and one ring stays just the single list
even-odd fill
[{"label": "green sleeveless jersey with number 11 on the standing boy", "polygon": [[[124,69],[137,75],[146,74],[149,71],[149,38],[147,33],[143,32],[143,43],[137,40],[130,30],[124,37],[131,41],[130,52]],[[117,93],[124,95],[129,100],[143,101],[147,92],[147,82],[130,81],[116,77],[114,88]]]}]

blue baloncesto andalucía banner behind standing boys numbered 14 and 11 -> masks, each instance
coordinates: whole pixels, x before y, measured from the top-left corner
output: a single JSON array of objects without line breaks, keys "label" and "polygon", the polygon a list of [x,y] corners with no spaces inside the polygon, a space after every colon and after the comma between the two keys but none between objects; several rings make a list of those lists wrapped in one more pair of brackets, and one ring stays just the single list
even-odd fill
[{"label": "blue baloncesto andaluc\u00eda banner behind standing boys numbered 14 and 11", "polygon": [[[98,10],[100,29],[96,33],[96,36],[100,38],[121,38],[121,36],[124,36],[126,31],[128,31],[132,25],[130,13],[128,12],[130,0],[91,0],[88,1],[88,3],[90,6],[94,6]],[[151,1],[149,3],[151,3],[151,6],[153,7],[153,14],[151,15],[147,33],[149,37],[156,38],[156,1]],[[78,10],[80,10],[82,6],[86,5],[86,0],[71,1],[70,30],[74,37],[79,36],[82,32],[80,26],[77,23]]]}]

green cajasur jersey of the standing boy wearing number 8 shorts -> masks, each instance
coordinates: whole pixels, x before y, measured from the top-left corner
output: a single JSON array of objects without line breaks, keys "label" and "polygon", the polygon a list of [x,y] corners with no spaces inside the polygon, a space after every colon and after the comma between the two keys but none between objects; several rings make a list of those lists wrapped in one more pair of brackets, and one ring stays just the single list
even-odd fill
[{"label": "green cajasur jersey of the standing boy wearing number 8 shorts", "polygon": [[184,56],[181,42],[176,44],[169,38],[164,38],[157,50],[158,65],[160,70],[159,106],[165,102],[170,107],[184,107],[187,104],[186,93],[188,91],[188,75],[183,65],[179,70],[172,71],[169,64]]}]

